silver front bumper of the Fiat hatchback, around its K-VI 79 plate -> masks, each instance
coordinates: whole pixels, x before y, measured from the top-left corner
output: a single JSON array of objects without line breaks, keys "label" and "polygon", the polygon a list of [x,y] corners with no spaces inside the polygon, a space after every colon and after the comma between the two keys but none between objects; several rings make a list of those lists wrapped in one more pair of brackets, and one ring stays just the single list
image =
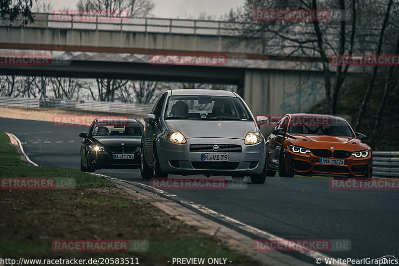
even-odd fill
[{"label": "silver front bumper of the Fiat hatchback, around its K-VI 79 plate", "polygon": [[[266,146],[264,141],[253,145],[245,145],[242,139],[224,138],[191,138],[184,144],[172,143],[160,139],[157,143],[157,152],[160,167],[163,172],[178,175],[228,175],[251,176],[262,173]],[[208,152],[190,151],[192,144],[235,144],[241,146],[241,152]],[[228,162],[203,162],[202,153],[228,154]]]}]

